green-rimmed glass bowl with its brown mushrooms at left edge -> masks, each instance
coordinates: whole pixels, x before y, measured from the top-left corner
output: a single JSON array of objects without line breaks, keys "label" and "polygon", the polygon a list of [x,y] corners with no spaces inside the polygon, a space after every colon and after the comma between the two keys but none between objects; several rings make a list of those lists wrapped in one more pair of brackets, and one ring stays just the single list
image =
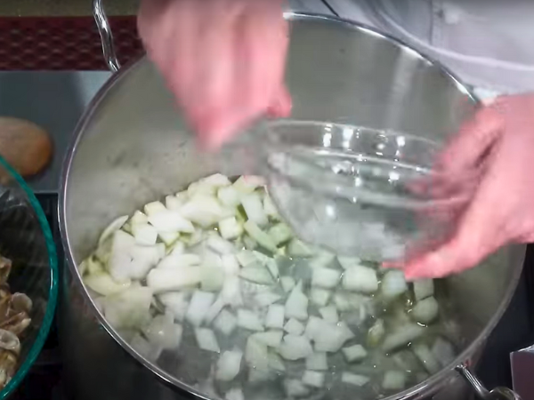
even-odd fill
[{"label": "green-rimmed glass bowl with its brown mushrooms at left edge", "polygon": [[43,209],[0,157],[0,400],[36,361],[57,296],[57,256]]}]

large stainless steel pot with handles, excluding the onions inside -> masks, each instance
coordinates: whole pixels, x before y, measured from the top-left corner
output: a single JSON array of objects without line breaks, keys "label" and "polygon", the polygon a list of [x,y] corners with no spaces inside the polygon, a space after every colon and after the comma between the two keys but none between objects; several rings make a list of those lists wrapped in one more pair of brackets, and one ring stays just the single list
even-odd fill
[{"label": "large stainless steel pot with handles, excluding the onions inside", "polygon": [[[109,67],[118,70],[101,1],[94,0]],[[393,129],[444,140],[473,113],[469,90],[409,46],[348,20],[288,13],[291,46],[287,84],[293,116]],[[175,375],[138,356],[101,316],[81,282],[77,263],[117,215],[133,212],[209,172],[239,173],[224,157],[198,155],[172,95],[145,58],[121,68],[101,89],[77,126],[63,169],[60,220],[69,269],[61,297],[61,345],[79,399],[166,399],[200,396],[196,372]],[[448,278],[464,349],[449,368],[388,398],[460,398],[473,384],[473,364],[506,309],[521,273],[523,247],[507,248],[483,266]],[[460,372],[459,374],[457,372]]]}]

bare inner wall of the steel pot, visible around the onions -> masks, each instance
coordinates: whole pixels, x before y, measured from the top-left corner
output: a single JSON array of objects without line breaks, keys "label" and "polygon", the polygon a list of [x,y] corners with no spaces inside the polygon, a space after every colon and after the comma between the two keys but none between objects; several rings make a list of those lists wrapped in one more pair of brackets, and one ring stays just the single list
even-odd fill
[{"label": "bare inner wall of the steel pot, visible around the onions", "polygon": [[[293,117],[399,130],[441,141],[473,113],[475,101],[465,87],[408,47],[342,20],[296,14],[289,18],[293,22],[287,84],[294,99]],[[120,71],[79,124],[65,165],[61,228],[73,274],[77,276],[73,264],[88,255],[114,217],[210,172],[245,172],[235,157],[229,160],[196,152],[171,94],[146,59]],[[448,310],[459,321],[455,329],[465,349],[458,360],[473,352],[506,308],[521,271],[522,252],[506,249],[487,265],[446,280]],[[79,276],[77,280],[85,291]],[[110,330],[94,307],[93,312]],[[145,364],[190,389],[206,374],[206,359],[196,359],[177,364],[173,372]],[[445,373],[406,393],[438,382]]]}]

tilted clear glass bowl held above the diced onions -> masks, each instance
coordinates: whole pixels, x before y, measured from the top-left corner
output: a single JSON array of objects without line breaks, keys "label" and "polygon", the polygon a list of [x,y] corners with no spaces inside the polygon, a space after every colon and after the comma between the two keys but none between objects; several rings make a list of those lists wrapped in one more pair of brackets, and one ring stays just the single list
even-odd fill
[{"label": "tilted clear glass bowl held above the diced onions", "polygon": [[257,149],[280,212],[304,241],[400,260],[449,235],[473,179],[433,170],[441,143],[346,124],[266,123]]}]

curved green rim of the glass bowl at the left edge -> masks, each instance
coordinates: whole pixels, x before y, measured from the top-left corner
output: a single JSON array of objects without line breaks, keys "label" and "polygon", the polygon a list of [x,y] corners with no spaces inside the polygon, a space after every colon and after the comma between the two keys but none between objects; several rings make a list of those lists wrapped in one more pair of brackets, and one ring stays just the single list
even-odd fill
[{"label": "curved green rim of the glass bowl at the left edge", "polygon": [[31,348],[29,349],[28,355],[24,359],[24,362],[19,365],[19,368],[17,372],[15,372],[15,375],[12,377],[12,380],[10,380],[9,383],[5,385],[5,387],[0,392],[0,400],[3,400],[4,398],[11,396],[12,392],[19,387],[20,382],[24,380],[29,369],[36,361],[37,356],[39,356],[39,354],[41,353],[41,349],[44,346],[44,341],[48,337],[48,333],[50,332],[50,327],[52,326],[53,322],[56,303],[58,300],[59,269],[58,256],[53,241],[52,230],[48,225],[48,221],[46,220],[46,216],[44,215],[44,211],[41,207],[41,204],[39,204],[39,201],[37,200],[33,191],[28,187],[26,181],[23,180],[22,177],[20,177],[19,173],[13,170],[12,166],[8,164],[2,156],[0,156],[0,165],[3,166],[12,175],[12,177],[20,185],[20,188],[24,190],[26,196],[28,196],[29,203],[36,212],[37,220],[39,221],[39,225],[43,230],[44,242],[46,244],[46,250],[48,252],[48,263],[50,266],[50,288],[48,291],[48,301],[46,303],[43,323],[39,328],[39,332],[37,332],[36,339],[34,340]]}]

